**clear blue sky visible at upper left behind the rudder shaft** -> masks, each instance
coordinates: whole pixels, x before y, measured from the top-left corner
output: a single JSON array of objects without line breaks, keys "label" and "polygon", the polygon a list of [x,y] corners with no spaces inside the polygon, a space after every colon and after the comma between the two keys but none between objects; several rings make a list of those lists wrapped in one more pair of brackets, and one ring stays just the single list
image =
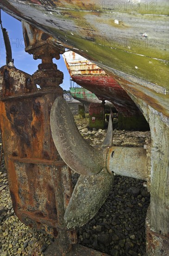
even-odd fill
[{"label": "clear blue sky visible at upper left behind the rudder shaft", "polygon": [[[32,54],[30,55],[25,52],[21,22],[6,14],[2,10],[1,20],[2,26],[5,27],[8,31],[15,67],[28,74],[33,74],[38,69],[38,64],[41,63],[41,60],[35,61]],[[56,63],[57,68],[64,74],[63,84],[60,86],[65,90],[69,90],[70,76],[67,67],[63,61],[62,55],[60,60],[56,61],[56,59],[53,59],[53,62]],[[6,50],[2,32],[0,29],[0,67],[4,65],[6,65]]]}]

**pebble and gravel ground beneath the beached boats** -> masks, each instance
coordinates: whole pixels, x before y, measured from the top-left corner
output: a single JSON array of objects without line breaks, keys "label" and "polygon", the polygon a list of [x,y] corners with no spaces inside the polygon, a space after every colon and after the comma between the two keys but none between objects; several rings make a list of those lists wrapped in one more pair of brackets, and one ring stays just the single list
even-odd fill
[{"label": "pebble and gravel ground beneath the beached boats", "polygon": [[[89,130],[88,118],[79,120],[78,128],[93,146],[99,146],[106,130]],[[114,120],[117,127],[117,120]],[[140,147],[150,140],[150,132],[113,132],[113,145]],[[0,143],[0,149],[2,145]],[[73,184],[79,175],[73,174]],[[115,176],[113,189],[97,215],[77,230],[78,243],[112,256],[142,256],[145,254],[145,216],[150,194],[143,181]],[[6,177],[5,162],[0,167],[0,256],[44,255],[53,241],[49,235],[26,227],[13,212]]]}]

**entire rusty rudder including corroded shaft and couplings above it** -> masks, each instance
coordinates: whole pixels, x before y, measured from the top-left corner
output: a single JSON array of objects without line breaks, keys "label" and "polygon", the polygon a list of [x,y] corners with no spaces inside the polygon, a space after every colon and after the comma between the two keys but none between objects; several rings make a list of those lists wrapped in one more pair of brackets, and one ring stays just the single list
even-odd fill
[{"label": "entire rusty rudder including corroded shaft and couplings above it", "polygon": [[38,43],[38,36],[45,34],[36,33],[28,49],[42,59],[35,74],[0,68],[0,128],[13,209],[26,225],[58,237],[63,255],[76,243],[75,231],[69,231],[63,219],[72,194],[71,171],[50,131],[50,109],[56,97],[63,96],[63,73],[52,58],[58,59],[63,50],[55,49],[54,54],[53,43]]}]

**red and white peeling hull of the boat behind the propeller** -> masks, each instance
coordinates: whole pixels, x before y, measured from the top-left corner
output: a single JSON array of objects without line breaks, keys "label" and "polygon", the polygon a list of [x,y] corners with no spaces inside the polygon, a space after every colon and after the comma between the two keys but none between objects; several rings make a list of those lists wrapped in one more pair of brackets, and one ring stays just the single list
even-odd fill
[{"label": "red and white peeling hull of the boat behind the propeller", "polygon": [[125,116],[142,115],[136,104],[112,76],[79,54],[67,51],[63,59],[73,81],[92,91],[98,98],[113,103]]}]

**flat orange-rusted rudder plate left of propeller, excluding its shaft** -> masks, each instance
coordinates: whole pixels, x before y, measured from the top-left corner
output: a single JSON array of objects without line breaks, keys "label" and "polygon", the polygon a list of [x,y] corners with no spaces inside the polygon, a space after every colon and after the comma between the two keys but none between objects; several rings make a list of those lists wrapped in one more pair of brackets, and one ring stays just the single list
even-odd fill
[{"label": "flat orange-rusted rudder plate left of propeller, excluding its shaft", "polygon": [[[0,69],[0,75],[0,129],[13,209],[26,225],[58,236],[58,229],[66,229],[58,222],[62,210],[56,203],[53,166],[62,168],[65,163],[51,136],[50,109],[56,97],[62,95],[62,89],[55,88],[51,94],[46,88],[39,96],[30,75],[7,66]],[[27,98],[26,94],[32,97]],[[63,185],[66,182],[67,205],[72,193],[70,175]],[[59,186],[62,191],[62,184]]]}]

